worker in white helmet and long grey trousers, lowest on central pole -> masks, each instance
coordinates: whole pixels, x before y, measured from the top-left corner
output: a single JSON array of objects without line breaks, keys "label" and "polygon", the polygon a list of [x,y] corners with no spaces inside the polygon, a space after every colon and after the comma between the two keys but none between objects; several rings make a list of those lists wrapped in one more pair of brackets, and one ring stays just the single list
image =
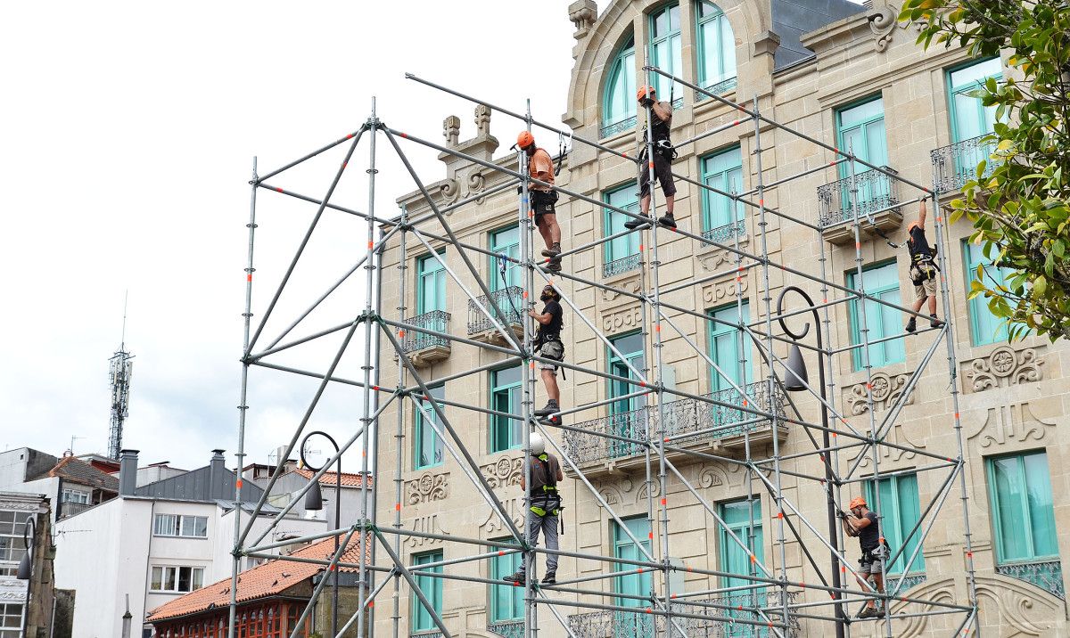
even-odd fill
[{"label": "worker in white helmet and long grey trousers, lowest on central pole", "polygon": [[[557,457],[546,451],[546,441],[537,433],[531,435],[532,463],[529,470],[532,476],[532,496],[528,503],[528,544],[538,546],[539,530],[546,538],[548,549],[557,549],[557,522],[561,519],[561,494],[557,483],[565,480],[561,473]],[[520,473],[520,489],[525,491],[526,471]],[[515,574],[505,577],[507,582],[522,585],[525,579],[524,559],[520,559],[520,569]],[[557,581],[557,555],[546,555],[546,575],[542,585],[553,585]]]}]

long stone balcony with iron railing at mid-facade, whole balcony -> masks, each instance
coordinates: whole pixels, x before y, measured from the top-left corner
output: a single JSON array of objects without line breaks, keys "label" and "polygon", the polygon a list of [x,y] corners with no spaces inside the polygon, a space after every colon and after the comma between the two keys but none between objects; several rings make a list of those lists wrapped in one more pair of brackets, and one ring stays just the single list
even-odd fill
[{"label": "long stone balcony with iron railing at mid-facade, whole balcony", "polygon": [[[747,386],[747,393],[750,396],[747,401],[749,405],[771,411],[768,386],[765,382],[750,384]],[[745,405],[744,398],[732,389],[712,392],[705,396],[731,405]],[[783,403],[783,394],[777,388],[771,402],[777,415],[784,415]],[[641,407],[576,423],[575,426],[583,432],[572,430],[565,432],[565,451],[587,474],[612,473],[639,467],[643,465],[642,444],[622,441],[606,435],[646,440],[647,416],[654,434],[652,440],[684,435],[671,441],[670,445],[676,448],[732,454],[743,450],[747,440],[750,441],[752,451],[773,442],[773,427],[769,420],[740,409],[705,401],[682,399],[666,403],[664,414],[664,426],[658,423],[657,407]],[[687,436],[688,433],[694,434]],[[788,427],[778,426],[777,436],[778,440],[783,441],[788,437]],[[666,456],[674,461],[689,458],[686,452],[668,452]]]}]

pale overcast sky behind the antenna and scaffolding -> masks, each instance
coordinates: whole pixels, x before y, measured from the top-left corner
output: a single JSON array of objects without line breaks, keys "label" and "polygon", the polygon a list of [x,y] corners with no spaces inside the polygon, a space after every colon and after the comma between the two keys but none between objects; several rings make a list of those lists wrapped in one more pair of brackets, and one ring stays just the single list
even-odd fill
[{"label": "pale overcast sky behind the antenna and scaffolding", "polygon": [[[78,437],[75,453],[107,450],[108,358],[120,345],[128,290],[126,347],[136,358],[124,447],[139,449],[142,464],[186,468],[224,448],[233,464],[253,157],[265,174],[357,129],[373,95],[380,118],[395,128],[441,141],[442,120],[457,114],[461,139],[474,135],[474,105],[406,80],[406,72],[518,111],[531,97],[536,119],[560,122],[575,43],[567,6],[5,5],[0,449],[59,455]],[[493,118],[501,152],[518,129],[505,115]],[[382,137],[379,146],[377,206],[391,212],[414,187],[386,158]],[[406,151],[428,182],[444,176],[437,153],[411,144]],[[363,211],[367,149],[357,157],[335,201]],[[272,182],[321,197],[340,158]],[[263,190],[259,198],[257,316],[315,213]],[[265,339],[360,256],[366,230],[356,221],[324,218]],[[295,334],[339,323],[360,298],[358,282],[345,286]],[[360,375],[360,343],[342,362],[351,377]],[[336,346],[295,352],[287,361],[323,370]],[[248,461],[265,462],[286,442],[315,389],[254,370]],[[354,389],[332,390],[311,426],[346,438],[358,405]]]}]

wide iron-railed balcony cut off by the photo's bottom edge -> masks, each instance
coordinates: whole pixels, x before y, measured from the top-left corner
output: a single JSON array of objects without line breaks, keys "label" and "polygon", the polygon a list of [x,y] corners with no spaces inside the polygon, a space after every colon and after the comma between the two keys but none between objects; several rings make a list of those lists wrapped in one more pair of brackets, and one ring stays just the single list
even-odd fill
[{"label": "wide iron-railed balcony cut off by the photo's bottom edge", "polygon": [[[704,605],[724,605],[727,607],[752,606],[753,598],[759,601],[764,598],[765,614],[768,620],[778,622],[783,616],[780,590],[760,592],[758,594],[737,594],[733,596],[721,596],[717,598],[696,598],[692,603],[673,602],[671,609],[678,613],[690,613],[696,616],[709,616],[709,620],[700,618],[675,618],[673,623],[684,629],[686,636],[699,636],[701,638],[729,638],[734,636],[766,637],[776,636],[777,633],[765,626],[754,626],[745,624],[733,624],[720,620],[723,618],[736,618],[740,620],[753,620],[766,622],[765,618],[753,611],[743,611],[738,609],[724,609],[719,607],[705,607]],[[798,603],[798,592],[788,592],[788,604]],[[667,631],[667,619],[664,616],[652,616],[641,611],[593,611],[587,613],[574,613],[568,617],[568,628],[577,638],[624,638],[633,636],[675,636],[678,632]],[[797,618],[792,618],[789,628],[781,632],[788,638],[797,638],[800,631]]]}]

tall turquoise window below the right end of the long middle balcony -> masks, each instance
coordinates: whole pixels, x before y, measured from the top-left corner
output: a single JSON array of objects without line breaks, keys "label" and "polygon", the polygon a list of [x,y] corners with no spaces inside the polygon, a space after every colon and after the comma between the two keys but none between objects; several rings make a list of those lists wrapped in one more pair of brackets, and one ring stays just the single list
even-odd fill
[{"label": "tall turquoise window below the right end of the long middle balcony", "polygon": [[[721,587],[730,588],[753,585],[752,580],[744,578],[743,576],[758,576],[759,574],[755,561],[764,561],[764,544],[762,539],[762,502],[759,499],[751,501],[737,500],[720,503],[717,509],[719,510],[718,513],[720,514],[721,519],[724,520],[728,526],[727,529],[723,526],[718,526],[717,532],[717,541],[720,547],[721,571],[739,575],[739,577],[722,577]],[[732,539],[728,530],[732,530],[732,533],[734,533],[736,538],[743,542],[746,549]],[[750,560],[751,554],[754,555],[754,561]],[[764,606],[764,588],[739,590],[734,593],[729,593],[725,596],[724,602],[733,607],[739,605],[745,607]],[[729,611],[728,614],[732,618],[758,620],[755,614],[750,611],[732,610]],[[730,624],[725,628],[724,635],[732,637],[754,636],[755,627],[753,625]]]}]

